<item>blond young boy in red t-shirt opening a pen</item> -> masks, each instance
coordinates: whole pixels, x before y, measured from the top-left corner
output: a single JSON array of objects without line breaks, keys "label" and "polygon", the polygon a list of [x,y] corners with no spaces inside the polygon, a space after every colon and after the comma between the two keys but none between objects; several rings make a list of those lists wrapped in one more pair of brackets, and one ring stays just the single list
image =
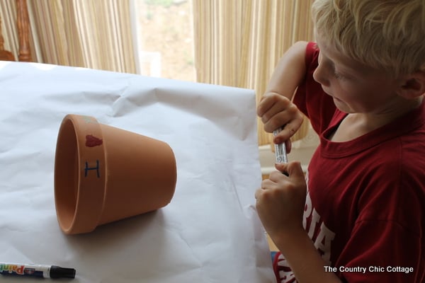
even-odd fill
[{"label": "blond young boy in red t-shirt opening a pen", "polygon": [[290,47],[257,110],[267,132],[285,125],[276,144],[290,149],[299,110],[320,137],[306,176],[276,164],[289,176],[256,191],[278,282],[424,283],[425,2],[312,11],[317,43]]}]

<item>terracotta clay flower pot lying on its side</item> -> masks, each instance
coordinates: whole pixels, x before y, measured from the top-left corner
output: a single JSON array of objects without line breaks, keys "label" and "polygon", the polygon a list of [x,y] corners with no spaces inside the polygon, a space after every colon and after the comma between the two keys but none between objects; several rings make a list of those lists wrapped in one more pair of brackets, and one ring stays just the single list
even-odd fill
[{"label": "terracotta clay flower pot lying on its side", "polygon": [[171,201],[176,159],[163,141],[67,115],[57,137],[55,205],[64,233],[151,212]]}]

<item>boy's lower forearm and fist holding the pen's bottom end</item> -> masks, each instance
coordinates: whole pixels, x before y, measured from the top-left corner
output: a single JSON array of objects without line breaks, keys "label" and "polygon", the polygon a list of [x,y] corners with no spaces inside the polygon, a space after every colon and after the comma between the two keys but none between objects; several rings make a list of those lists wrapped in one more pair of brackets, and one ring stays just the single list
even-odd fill
[{"label": "boy's lower forearm and fist holding the pen's bottom end", "polygon": [[[256,209],[297,282],[339,282],[302,226],[307,185],[300,163],[276,163],[275,171],[256,191]],[[288,172],[286,176],[280,172]]]}]

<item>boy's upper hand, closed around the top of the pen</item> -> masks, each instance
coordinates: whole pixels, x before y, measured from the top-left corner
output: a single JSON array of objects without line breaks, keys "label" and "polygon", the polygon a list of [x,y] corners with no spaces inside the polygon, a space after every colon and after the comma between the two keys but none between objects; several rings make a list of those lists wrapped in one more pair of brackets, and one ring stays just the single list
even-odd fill
[{"label": "boy's upper hand, closed around the top of the pen", "polygon": [[[283,130],[273,139],[275,144],[288,141],[300,128],[303,118],[297,106],[279,93],[269,92],[261,98],[257,108],[266,132],[273,132],[285,125]],[[290,147],[290,144],[287,144]],[[289,152],[289,151],[288,151]]]}]

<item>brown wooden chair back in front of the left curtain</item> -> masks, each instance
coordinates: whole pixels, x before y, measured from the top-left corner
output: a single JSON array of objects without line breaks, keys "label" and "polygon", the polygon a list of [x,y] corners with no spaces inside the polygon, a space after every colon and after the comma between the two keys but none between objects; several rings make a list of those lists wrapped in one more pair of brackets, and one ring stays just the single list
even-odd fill
[{"label": "brown wooden chair back in front of the left curtain", "polygon": [[[31,62],[30,52],[30,19],[26,0],[16,0],[16,27],[18,28],[19,54],[18,61]],[[0,18],[0,60],[15,61],[12,52],[4,50],[4,38],[1,35]]]}]

